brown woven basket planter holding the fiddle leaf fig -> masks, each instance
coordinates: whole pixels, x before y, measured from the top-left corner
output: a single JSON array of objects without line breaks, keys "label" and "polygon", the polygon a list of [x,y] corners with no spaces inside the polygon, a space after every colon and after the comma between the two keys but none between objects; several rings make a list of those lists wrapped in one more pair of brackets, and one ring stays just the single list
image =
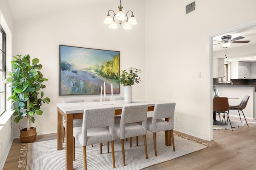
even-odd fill
[{"label": "brown woven basket planter holding the fiddle leaf fig", "polygon": [[31,143],[36,140],[36,127],[31,127],[29,131],[27,128],[20,130],[20,141],[22,143]]}]

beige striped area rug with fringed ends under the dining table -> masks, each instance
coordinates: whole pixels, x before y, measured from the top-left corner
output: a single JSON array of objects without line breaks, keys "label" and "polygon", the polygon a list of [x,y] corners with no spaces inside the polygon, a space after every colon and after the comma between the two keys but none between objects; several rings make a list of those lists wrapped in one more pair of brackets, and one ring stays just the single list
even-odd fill
[{"label": "beige striped area rug with fringed ends under the dining table", "polygon": [[[145,156],[144,140],[139,137],[138,146],[136,146],[136,137],[132,138],[132,148],[130,141],[125,141],[126,166],[123,166],[121,142],[115,140],[115,161],[114,170],[140,170],[154,164],[159,164],[192,152],[196,152],[207,147],[207,143],[196,141],[195,139],[178,136],[174,134],[175,152],[172,146],[165,145],[164,132],[157,133],[157,152],[154,154],[153,135],[147,134],[148,159]],[[18,170],[65,170],[65,143],[64,149],[57,150],[57,140],[42,141],[35,143],[22,144],[20,152],[20,161]],[[99,144],[94,147],[88,146],[87,149],[87,169],[88,170],[109,170],[113,169],[112,153],[107,152],[106,143],[102,146],[100,154]],[[74,161],[74,170],[83,170],[83,151],[82,146],[76,142],[76,160]],[[111,145],[110,145],[111,151]]]}]

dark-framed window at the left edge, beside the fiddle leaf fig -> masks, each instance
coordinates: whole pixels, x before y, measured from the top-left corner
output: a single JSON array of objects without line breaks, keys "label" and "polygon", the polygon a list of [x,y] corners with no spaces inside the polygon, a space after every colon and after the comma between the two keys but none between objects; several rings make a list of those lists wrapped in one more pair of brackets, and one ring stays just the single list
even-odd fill
[{"label": "dark-framed window at the left edge, beside the fiddle leaf fig", "polygon": [[1,28],[0,35],[0,115],[2,115],[6,111],[5,101],[6,101],[6,84],[4,83],[6,76],[6,68],[5,68],[5,32],[4,29]]}]

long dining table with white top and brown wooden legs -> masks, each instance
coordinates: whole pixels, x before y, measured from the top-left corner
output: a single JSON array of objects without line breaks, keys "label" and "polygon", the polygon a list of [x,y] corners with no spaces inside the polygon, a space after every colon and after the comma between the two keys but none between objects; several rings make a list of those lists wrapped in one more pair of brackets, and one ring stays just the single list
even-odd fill
[{"label": "long dining table with white top and brown wooden legs", "polygon": [[[58,129],[57,129],[57,150],[62,150],[62,124],[63,117],[66,119],[66,170],[73,170],[73,151],[74,151],[74,138],[73,138],[73,120],[82,119],[84,109],[96,109],[96,108],[115,108],[115,115],[122,113],[123,106],[138,106],[148,105],[148,111],[153,111],[156,104],[163,104],[169,102],[137,99],[133,100],[132,103],[125,103],[124,100],[106,101],[106,102],[81,102],[81,103],[58,103]],[[166,118],[166,121],[170,121]],[[165,131],[165,145],[171,146],[171,135],[170,131]]]}]

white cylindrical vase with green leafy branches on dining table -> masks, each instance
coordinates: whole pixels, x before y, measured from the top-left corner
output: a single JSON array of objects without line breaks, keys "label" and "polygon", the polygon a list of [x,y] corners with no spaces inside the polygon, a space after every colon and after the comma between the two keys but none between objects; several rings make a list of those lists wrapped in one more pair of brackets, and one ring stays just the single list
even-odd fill
[{"label": "white cylindrical vase with green leafy branches on dining table", "polygon": [[124,102],[132,103],[132,85],[141,82],[138,75],[138,73],[141,73],[141,70],[130,67],[128,70],[121,70],[121,72],[120,77],[115,76],[115,80],[124,86]]}]

